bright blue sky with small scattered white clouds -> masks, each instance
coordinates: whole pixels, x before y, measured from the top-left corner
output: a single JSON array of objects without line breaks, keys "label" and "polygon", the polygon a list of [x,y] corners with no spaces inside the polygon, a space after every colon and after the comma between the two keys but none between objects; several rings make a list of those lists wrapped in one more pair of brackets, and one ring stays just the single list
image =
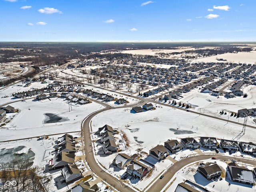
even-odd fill
[{"label": "bright blue sky with small scattered white clouds", "polygon": [[255,0],[0,0],[0,41],[256,41]]}]

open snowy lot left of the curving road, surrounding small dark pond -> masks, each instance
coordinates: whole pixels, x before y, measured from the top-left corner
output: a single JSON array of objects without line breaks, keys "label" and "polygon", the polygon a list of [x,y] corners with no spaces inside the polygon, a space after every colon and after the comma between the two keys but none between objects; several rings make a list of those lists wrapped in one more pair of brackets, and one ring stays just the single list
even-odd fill
[{"label": "open snowy lot left of the curving road, surrounding small dark pond", "polygon": [[[82,120],[90,113],[104,108],[104,106],[92,102],[85,105],[72,104],[72,110],[63,98],[52,100],[26,100],[13,103],[14,108],[20,109],[20,113],[7,114],[10,122],[0,129],[0,141],[29,138],[40,135],[57,134],[63,132],[80,131]],[[44,124],[45,113],[56,114],[67,118],[64,122]]]}]

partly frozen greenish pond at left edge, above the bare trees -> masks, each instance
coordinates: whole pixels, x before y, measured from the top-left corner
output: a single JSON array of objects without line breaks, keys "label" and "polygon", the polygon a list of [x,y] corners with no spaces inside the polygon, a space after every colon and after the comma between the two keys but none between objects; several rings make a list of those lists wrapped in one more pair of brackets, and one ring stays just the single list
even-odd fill
[{"label": "partly frozen greenish pond at left edge, above the bare trees", "polygon": [[35,153],[32,150],[28,150],[25,146],[0,149],[0,162],[8,163],[15,160],[16,158],[33,161],[35,158]]}]

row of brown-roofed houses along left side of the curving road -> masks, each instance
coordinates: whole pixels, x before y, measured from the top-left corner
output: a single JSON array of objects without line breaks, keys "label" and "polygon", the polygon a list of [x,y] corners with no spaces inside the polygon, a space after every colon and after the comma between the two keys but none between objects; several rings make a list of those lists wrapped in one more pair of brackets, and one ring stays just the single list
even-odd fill
[{"label": "row of brown-roofed houses along left side of the curving road", "polygon": [[75,164],[75,139],[70,134],[65,134],[58,138],[56,146],[54,146],[56,155],[49,161],[48,169],[61,169],[62,177],[60,182],[70,184],[82,178],[82,172]]}]

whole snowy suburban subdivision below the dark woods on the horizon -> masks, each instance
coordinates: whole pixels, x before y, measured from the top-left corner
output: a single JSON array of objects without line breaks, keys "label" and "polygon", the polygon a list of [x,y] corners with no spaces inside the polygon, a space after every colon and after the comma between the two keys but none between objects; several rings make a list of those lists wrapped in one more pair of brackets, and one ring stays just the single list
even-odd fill
[{"label": "whole snowy suburban subdivision below the dark woods on the horizon", "polygon": [[[210,45],[200,46],[197,60],[140,49],[63,64],[8,58],[4,71],[35,73],[1,80],[2,190],[9,181],[18,191],[255,191],[255,63],[208,61]],[[255,45],[215,46],[256,56]]]}]

